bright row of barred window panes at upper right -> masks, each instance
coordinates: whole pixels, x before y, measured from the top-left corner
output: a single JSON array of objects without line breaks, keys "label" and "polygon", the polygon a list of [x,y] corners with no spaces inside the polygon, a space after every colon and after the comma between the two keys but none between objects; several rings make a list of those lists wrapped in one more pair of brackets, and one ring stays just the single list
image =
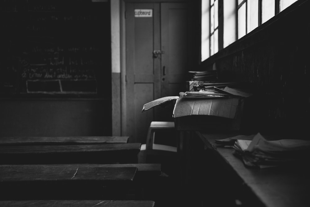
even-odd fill
[{"label": "bright row of barred window panes at upper right", "polygon": [[[201,0],[201,61],[289,7],[297,0]],[[222,12],[219,12],[219,8]],[[219,21],[219,18],[222,18]]]}]

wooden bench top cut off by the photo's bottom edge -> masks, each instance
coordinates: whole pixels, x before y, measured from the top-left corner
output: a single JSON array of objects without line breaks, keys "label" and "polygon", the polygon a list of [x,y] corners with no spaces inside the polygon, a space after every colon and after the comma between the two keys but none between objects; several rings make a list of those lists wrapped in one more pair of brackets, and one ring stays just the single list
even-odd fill
[{"label": "wooden bench top cut off by the photo's bottom edge", "polygon": [[152,200],[3,200],[0,206],[104,206],[104,207],[153,207]]}]

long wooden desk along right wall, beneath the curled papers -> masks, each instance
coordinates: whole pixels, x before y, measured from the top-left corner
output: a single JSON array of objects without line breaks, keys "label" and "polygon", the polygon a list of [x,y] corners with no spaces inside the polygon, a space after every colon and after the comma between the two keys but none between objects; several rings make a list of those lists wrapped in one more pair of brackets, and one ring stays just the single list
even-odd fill
[{"label": "long wooden desk along right wall, beneath the curled papers", "polygon": [[[194,132],[191,137],[188,137],[191,139],[191,149],[188,149],[191,153],[188,154],[192,157],[187,162],[189,168],[187,179],[191,182],[189,184],[191,187],[197,187],[193,182],[199,180],[205,182],[205,185],[211,188],[210,191],[206,191],[210,193],[211,198],[214,196],[219,202],[221,202],[220,199],[230,199],[230,204],[234,205],[310,206],[308,163],[304,163],[305,166],[295,164],[294,166],[268,169],[246,167],[239,158],[233,155],[232,148],[215,144],[215,139],[224,139],[235,135]],[[201,150],[201,146],[204,149]],[[197,152],[199,150],[201,150],[200,154]],[[199,156],[203,158],[199,158]],[[199,163],[205,167],[197,167]],[[193,178],[193,174],[199,178]],[[208,203],[203,197],[199,199],[205,204]]]}]

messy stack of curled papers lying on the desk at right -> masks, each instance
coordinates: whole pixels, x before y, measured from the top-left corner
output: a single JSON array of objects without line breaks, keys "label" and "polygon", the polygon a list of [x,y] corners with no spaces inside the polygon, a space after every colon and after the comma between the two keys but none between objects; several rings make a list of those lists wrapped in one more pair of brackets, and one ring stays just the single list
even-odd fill
[{"label": "messy stack of curled papers lying on the desk at right", "polygon": [[253,140],[237,140],[234,153],[240,155],[244,164],[260,168],[273,167],[304,160],[310,155],[310,140],[266,140],[260,133]]}]

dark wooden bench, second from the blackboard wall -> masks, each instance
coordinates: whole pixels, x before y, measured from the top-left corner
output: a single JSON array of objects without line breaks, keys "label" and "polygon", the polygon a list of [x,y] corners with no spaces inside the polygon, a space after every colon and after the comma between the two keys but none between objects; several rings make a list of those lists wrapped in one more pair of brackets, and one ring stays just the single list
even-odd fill
[{"label": "dark wooden bench, second from the blackboard wall", "polygon": [[0,146],[0,164],[137,163],[141,143]]}]

